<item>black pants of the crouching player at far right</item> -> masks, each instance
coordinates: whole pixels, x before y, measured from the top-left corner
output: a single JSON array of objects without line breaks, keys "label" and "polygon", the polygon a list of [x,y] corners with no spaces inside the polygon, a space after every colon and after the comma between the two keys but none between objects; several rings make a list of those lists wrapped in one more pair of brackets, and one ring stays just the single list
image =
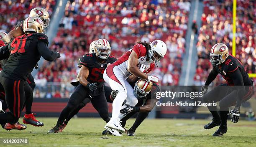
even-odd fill
[{"label": "black pants of the crouching player at far right", "polygon": [[[247,101],[254,94],[253,86],[245,86],[246,93],[242,94],[242,102]],[[216,86],[214,89],[206,93],[203,97],[205,102],[217,102],[219,101],[220,109],[217,111],[217,106],[207,106],[212,117],[215,120],[221,120],[222,125],[226,125],[228,119],[228,107],[236,105],[237,92],[227,86],[227,84],[221,84]],[[219,112],[219,113],[218,113]]]}]

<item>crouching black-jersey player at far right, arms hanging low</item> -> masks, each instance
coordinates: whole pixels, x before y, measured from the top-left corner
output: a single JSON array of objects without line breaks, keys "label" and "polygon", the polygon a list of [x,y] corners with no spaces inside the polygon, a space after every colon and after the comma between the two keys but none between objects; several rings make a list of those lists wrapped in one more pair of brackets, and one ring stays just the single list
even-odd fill
[{"label": "crouching black-jersey player at far right, arms hanging low", "polygon": [[[205,102],[220,101],[220,111],[217,111],[216,106],[208,106],[213,119],[204,128],[212,129],[213,127],[220,126],[212,136],[222,136],[228,130],[228,115],[232,114],[231,121],[233,123],[238,122],[241,103],[251,98],[254,93],[254,87],[253,81],[249,79],[242,63],[228,53],[228,47],[225,44],[217,43],[212,47],[210,62],[212,63],[213,69],[205,85],[202,86],[202,93],[206,93],[208,86],[218,74],[221,74],[223,79],[226,80],[226,84],[216,86],[212,91],[204,95]],[[229,112],[229,106],[235,106],[235,108]]]}]

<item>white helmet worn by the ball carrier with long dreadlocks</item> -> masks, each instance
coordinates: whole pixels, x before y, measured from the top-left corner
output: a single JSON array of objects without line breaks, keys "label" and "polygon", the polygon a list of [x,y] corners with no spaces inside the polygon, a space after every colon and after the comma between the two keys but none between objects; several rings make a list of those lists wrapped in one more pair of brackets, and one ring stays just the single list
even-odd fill
[{"label": "white helmet worn by the ball carrier with long dreadlocks", "polygon": [[148,50],[148,57],[151,63],[157,64],[164,58],[167,47],[164,41],[155,40],[150,43],[151,49]]}]

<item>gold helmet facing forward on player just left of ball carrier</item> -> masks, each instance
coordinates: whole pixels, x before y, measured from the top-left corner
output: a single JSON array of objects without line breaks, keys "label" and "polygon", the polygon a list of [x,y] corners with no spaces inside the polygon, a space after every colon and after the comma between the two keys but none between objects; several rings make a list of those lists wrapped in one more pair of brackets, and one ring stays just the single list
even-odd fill
[{"label": "gold helmet facing forward on player just left of ball carrier", "polygon": [[102,59],[107,59],[110,55],[110,52],[111,52],[111,47],[109,42],[106,39],[97,40],[95,45],[96,56]]}]

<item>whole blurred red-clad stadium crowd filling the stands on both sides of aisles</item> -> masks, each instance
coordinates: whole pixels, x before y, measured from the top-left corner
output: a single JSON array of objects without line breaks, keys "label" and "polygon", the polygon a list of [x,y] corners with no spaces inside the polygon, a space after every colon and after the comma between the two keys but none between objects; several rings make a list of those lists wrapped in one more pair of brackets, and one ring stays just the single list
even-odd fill
[{"label": "whole blurred red-clad stadium crowd filling the stands on both sides of aisles", "polygon": [[[0,29],[7,33],[28,17],[32,8],[45,8],[51,15],[56,4],[54,0],[3,0],[0,3]],[[204,0],[204,5],[202,27],[198,31],[195,85],[202,85],[211,69],[208,59],[211,46],[221,41],[230,49],[232,45],[232,1]],[[255,73],[256,66],[255,5],[238,0],[237,56],[243,58],[241,61],[248,73]],[[51,63],[44,61],[38,69],[34,97],[69,97],[73,89],[69,82],[79,71],[78,58],[88,53],[90,43],[99,38],[110,42],[111,54],[116,58],[131,49],[136,41],[165,41],[168,51],[158,65],[160,68],[152,74],[159,77],[160,85],[178,85],[185,35],[191,27],[188,26],[189,10],[190,0],[69,0],[59,31],[49,45],[51,50],[61,53],[61,58]],[[221,82],[218,77],[215,84]]]}]

